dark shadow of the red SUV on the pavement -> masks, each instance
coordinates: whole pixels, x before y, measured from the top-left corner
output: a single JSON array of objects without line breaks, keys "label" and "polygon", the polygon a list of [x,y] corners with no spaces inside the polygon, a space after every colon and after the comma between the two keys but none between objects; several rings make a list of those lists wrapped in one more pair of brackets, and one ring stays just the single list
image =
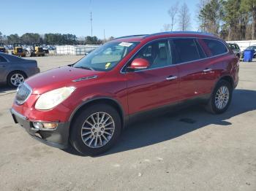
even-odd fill
[{"label": "dark shadow of the red SUV on the pavement", "polygon": [[[202,106],[192,106],[178,112],[133,122],[124,130],[118,143],[112,149],[97,157],[175,139],[211,124],[231,126],[232,123],[226,120],[256,109],[255,98],[255,90],[234,90],[230,108],[224,114],[209,114]],[[72,155],[79,155],[71,147],[64,151]]]}]

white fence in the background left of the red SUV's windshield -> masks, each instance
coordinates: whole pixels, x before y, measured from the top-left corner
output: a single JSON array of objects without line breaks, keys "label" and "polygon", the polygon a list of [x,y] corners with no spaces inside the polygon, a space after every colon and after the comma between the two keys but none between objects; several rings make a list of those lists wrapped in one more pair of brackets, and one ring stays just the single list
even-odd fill
[{"label": "white fence in the background left of the red SUV's windshield", "polygon": [[88,44],[88,45],[64,45],[56,46],[57,55],[85,55],[89,50],[95,49],[101,45]]}]

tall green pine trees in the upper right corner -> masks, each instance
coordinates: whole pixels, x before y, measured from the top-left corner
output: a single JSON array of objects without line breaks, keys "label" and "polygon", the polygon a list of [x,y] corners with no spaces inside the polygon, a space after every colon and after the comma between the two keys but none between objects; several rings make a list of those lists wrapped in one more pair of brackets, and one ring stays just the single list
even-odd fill
[{"label": "tall green pine trees in the upper right corner", "polygon": [[200,31],[222,39],[256,39],[256,0],[201,0]]}]

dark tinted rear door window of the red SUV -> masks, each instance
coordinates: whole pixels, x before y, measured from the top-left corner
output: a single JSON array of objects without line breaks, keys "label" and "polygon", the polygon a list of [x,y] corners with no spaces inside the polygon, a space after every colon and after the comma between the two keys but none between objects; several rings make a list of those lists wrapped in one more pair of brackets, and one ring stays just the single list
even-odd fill
[{"label": "dark tinted rear door window of the red SUV", "polygon": [[173,49],[176,51],[176,63],[200,59],[200,53],[194,39],[173,39],[172,42]]}]

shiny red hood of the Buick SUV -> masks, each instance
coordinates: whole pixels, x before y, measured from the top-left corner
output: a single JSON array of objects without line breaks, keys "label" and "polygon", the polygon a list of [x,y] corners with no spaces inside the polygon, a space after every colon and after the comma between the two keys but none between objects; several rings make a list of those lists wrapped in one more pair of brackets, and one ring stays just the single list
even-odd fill
[{"label": "shiny red hood of the Buick SUV", "polygon": [[105,74],[104,71],[91,71],[64,66],[36,74],[26,79],[26,84],[31,87],[32,94],[42,94],[60,87],[76,87],[79,83],[97,80],[103,74]]}]

